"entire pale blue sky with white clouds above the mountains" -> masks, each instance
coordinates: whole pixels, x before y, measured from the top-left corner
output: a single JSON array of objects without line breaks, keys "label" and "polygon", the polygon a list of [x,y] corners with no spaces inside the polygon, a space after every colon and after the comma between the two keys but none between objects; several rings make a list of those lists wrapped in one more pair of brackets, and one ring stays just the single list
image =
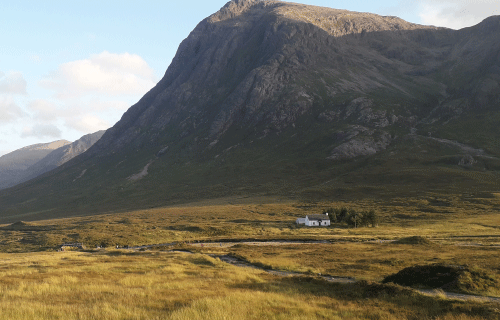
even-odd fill
[{"label": "entire pale blue sky with white clouds above the mountains", "polygon": [[[0,156],[113,126],[228,0],[0,2]],[[460,29],[500,0],[301,0]]]}]

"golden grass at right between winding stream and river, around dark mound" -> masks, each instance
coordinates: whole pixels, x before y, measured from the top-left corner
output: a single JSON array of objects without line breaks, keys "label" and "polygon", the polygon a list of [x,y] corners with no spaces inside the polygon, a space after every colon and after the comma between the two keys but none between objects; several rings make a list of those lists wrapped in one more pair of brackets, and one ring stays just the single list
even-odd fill
[{"label": "golden grass at right between winding stream and river, around dark mound", "polygon": [[461,279],[462,284],[459,283],[459,287],[452,291],[500,296],[499,282],[494,280],[500,279],[498,248],[333,243],[279,247],[240,245],[228,250],[235,256],[266,268],[370,281],[382,281],[385,276],[415,265],[439,263],[468,266],[473,270],[471,279]]}]

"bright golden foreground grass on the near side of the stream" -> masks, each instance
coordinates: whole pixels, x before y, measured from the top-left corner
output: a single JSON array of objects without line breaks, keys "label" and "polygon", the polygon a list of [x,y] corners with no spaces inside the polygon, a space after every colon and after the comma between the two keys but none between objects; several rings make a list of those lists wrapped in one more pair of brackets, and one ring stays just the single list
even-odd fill
[{"label": "bright golden foreground grass on the near side of the stream", "polygon": [[11,253],[0,259],[3,319],[495,317],[484,303],[434,299],[369,282],[342,286],[277,277],[203,254],[113,250]]}]

